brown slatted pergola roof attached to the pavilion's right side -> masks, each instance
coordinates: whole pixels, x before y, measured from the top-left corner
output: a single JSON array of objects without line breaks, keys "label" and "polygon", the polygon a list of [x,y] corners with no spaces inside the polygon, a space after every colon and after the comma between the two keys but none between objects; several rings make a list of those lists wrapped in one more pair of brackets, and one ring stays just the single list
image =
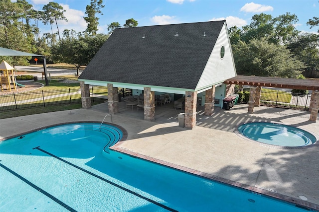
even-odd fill
[{"label": "brown slatted pergola roof attached to the pavilion's right side", "polygon": [[268,76],[242,76],[238,75],[224,81],[225,84],[279,87],[300,90],[319,90],[319,80],[294,79]]}]

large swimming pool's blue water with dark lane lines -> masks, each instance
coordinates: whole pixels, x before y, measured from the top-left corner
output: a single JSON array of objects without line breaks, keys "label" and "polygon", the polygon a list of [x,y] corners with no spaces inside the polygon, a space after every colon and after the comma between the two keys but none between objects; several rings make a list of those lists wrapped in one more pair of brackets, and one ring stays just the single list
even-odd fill
[{"label": "large swimming pool's blue water with dark lane lines", "polygon": [[0,211],[305,211],[109,151],[122,136],[114,126],[79,123],[0,142]]}]

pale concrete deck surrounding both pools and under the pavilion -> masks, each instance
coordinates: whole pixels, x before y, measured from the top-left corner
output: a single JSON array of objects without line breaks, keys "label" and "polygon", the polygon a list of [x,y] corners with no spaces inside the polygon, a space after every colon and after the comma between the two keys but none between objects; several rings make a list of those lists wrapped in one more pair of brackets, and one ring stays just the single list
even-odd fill
[{"label": "pale concrete deck surrounding both pools and under the pavilion", "polygon": [[[178,127],[177,115],[183,111],[174,110],[172,103],[158,106],[153,122],[143,120],[143,110],[119,103],[113,124],[127,131],[127,139],[113,149],[319,210],[319,142],[309,147],[276,147],[236,133],[245,122],[277,122],[318,137],[319,119],[309,122],[309,112],[257,107],[248,114],[248,105],[239,104],[230,110],[216,107],[207,117],[199,107],[196,127],[189,130]],[[0,140],[60,123],[101,122],[107,113],[107,103],[102,103],[88,110],[1,119]],[[111,117],[105,122],[111,122]],[[302,201],[301,196],[308,200]]]}]

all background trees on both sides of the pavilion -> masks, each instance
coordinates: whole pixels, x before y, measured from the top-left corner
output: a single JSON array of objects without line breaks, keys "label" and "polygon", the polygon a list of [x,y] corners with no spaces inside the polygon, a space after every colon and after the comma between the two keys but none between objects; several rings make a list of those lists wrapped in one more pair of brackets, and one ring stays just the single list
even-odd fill
[{"label": "all background trees on both sides of the pavilion", "polygon": [[[108,24],[108,34],[97,33],[98,14],[103,15],[103,0],[91,0],[86,6],[82,32],[64,30],[58,20],[67,19],[65,10],[56,2],[49,2],[42,10],[34,10],[27,0],[0,1],[0,46],[23,52],[45,55],[47,63],[73,64],[77,70],[86,66],[108,39],[114,29],[136,27],[138,21],[127,19]],[[40,36],[39,21],[50,25],[51,32]],[[230,27],[232,51],[236,71],[242,75],[301,77],[302,73],[319,71],[318,34],[303,33],[295,28],[298,17],[287,12],[273,17],[261,13],[252,16],[249,25]],[[310,28],[319,26],[319,18],[309,19]],[[56,29],[56,32],[54,32]],[[27,65],[30,57],[0,57],[13,65]]]}]

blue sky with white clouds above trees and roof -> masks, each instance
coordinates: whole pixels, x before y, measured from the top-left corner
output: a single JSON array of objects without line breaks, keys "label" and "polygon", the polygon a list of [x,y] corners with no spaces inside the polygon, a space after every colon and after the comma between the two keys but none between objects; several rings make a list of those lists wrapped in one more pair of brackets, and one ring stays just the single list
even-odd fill
[{"label": "blue sky with white clouds above trees and roof", "polygon": [[[14,0],[12,0],[14,1]],[[41,10],[52,0],[28,0],[34,9]],[[68,22],[59,21],[60,32],[64,29],[85,31],[83,17],[90,0],[53,0],[63,6]],[[314,16],[319,17],[318,0],[103,0],[103,15],[98,15],[98,33],[108,33],[108,24],[134,18],[138,26],[174,23],[203,22],[226,19],[227,26],[248,25],[254,14],[264,12],[277,17],[286,12],[296,14],[300,31],[317,33],[318,27],[310,29],[306,22]],[[50,32],[47,25],[39,25],[40,32]],[[56,26],[53,25],[56,31]]]}]

